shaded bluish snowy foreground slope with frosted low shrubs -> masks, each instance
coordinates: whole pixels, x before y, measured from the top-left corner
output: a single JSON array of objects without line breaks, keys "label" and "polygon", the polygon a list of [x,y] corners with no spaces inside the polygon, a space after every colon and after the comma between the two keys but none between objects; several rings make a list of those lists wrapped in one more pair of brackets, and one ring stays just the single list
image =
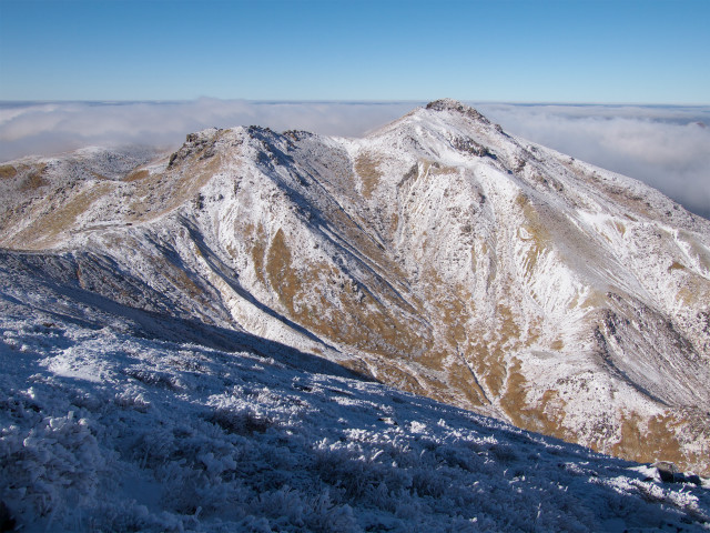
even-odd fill
[{"label": "shaded bluish snowy foreground slope with frosted low shrubs", "polygon": [[0,328],[21,531],[710,529],[707,485],[1,265]]}]

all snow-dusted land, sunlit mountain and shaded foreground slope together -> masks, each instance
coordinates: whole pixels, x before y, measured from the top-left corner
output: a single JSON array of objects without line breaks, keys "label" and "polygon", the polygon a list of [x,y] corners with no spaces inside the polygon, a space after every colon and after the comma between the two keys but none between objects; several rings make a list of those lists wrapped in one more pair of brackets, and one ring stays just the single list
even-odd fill
[{"label": "all snow-dusted land, sunlit mountain and shaded foreground slope together", "polygon": [[0,529],[710,527],[710,222],[637,181],[440,100],[0,194]]}]

